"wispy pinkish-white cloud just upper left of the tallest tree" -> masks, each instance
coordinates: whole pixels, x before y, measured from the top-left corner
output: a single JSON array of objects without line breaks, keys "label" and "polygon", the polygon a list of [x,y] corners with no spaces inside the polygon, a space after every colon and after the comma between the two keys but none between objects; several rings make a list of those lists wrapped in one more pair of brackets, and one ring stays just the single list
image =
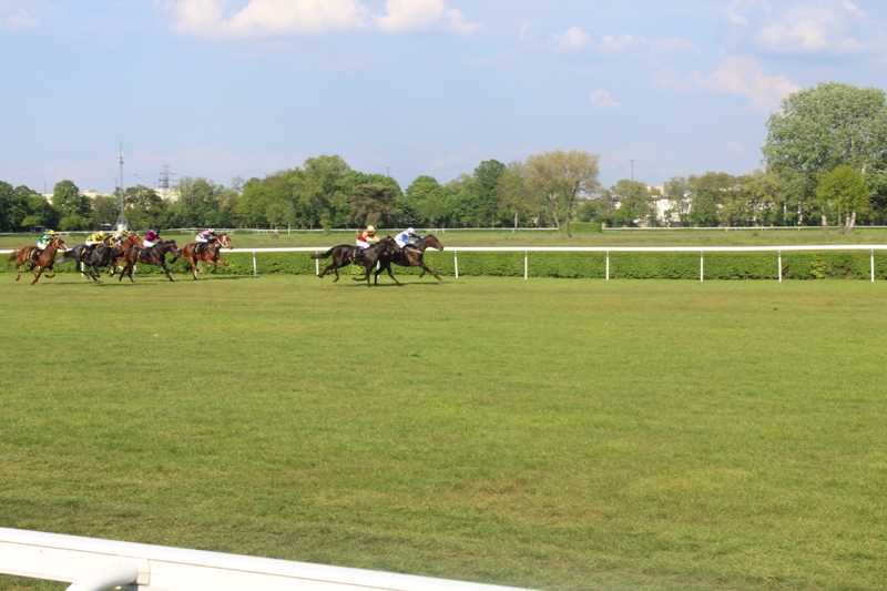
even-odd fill
[{"label": "wispy pinkish-white cloud just upper left of the tallest tree", "polygon": [[683,80],[665,70],[659,73],[655,82],[660,88],[673,88],[684,92],[694,90],[727,92],[747,99],[752,108],[761,112],[776,111],[785,96],[801,90],[783,75],[764,75],[761,61],[752,57],[728,57],[721,61],[711,74],[696,71]]}]

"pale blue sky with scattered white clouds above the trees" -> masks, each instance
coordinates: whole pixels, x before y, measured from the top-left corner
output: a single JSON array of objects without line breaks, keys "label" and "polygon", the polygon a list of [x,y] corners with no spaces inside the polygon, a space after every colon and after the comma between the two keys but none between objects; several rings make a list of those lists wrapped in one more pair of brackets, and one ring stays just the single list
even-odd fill
[{"label": "pale blue sky with scattered white clouds above the trees", "polygon": [[662,184],[759,167],[787,93],[885,72],[884,0],[0,0],[0,180],[111,191],[123,142],[128,186],[558,149]]}]

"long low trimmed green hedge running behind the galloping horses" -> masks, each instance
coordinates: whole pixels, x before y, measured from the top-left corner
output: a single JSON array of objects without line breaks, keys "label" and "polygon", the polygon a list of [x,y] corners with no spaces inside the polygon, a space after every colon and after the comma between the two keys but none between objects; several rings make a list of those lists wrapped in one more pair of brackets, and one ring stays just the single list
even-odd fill
[{"label": "long low trimmed green hedge running behind the galloping horses", "polygon": [[[458,252],[460,276],[523,277],[522,252],[477,253]],[[253,254],[228,253],[222,258],[236,275],[253,274]],[[455,275],[451,251],[428,251],[426,264],[441,277]],[[706,279],[777,279],[776,253],[705,253]],[[325,261],[320,261],[324,268]],[[257,253],[259,275],[314,275],[315,262],[309,253]],[[220,265],[221,267],[221,265]],[[24,268],[24,267],[22,267]],[[208,266],[201,264],[204,272]],[[74,264],[55,267],[57,273],[74,273]],[[184,259],[171,265],[177,275],[190,274]],[[3,258],[0,273],[14,272],[11,262]],[[139,265],[137,275],[162,273],[157,266]],[[363,274],[360,266],[350,265],[340,273]],[[396,276],[418,275],[421,269],[394,267]],[[225,273],[221,267],[218,273]],[[875,274],[887,277],[887,256],[876,253]],[[529,253],[529,276],[602,279],[606,276],[605,253]],[[869,253],[864,251],[825,253],[783,253],[783,277],[786,279],[868,279]],[[695,279],[700,278],[699,253],[610,253],[610,278],[613,279]]]}]

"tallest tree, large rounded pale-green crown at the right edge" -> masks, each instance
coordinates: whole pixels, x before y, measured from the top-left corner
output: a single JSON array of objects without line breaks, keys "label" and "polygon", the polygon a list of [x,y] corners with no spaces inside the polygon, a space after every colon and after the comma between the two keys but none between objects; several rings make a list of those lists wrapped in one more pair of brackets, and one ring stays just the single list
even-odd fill
[{"label": "tallest tree, large rounded pale-green crown at the right edge", "polygon": [[[816,198],[823,177],[844,164],[887,190],[887,95],[837,82],[789,94],[767,121],[762,151],[799,212]],[[828,212],[819,210],[827,231]]]}]

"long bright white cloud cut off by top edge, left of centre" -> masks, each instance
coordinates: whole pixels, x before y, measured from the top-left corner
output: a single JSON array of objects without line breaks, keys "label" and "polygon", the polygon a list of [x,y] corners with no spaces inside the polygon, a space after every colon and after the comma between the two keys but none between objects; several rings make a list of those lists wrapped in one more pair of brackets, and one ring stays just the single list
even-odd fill
[{"label": "long bright white cloud cut off by top edge, left of centre", "polygon": [[249,0],[226,14],[227,0],[174,0],[173,29],[216,38],[288,35],[376,28],[387,32],[443,30],[472,32],[478,23],[446,0],[387,0],[385,14],[371,14],[360,0]]}]

